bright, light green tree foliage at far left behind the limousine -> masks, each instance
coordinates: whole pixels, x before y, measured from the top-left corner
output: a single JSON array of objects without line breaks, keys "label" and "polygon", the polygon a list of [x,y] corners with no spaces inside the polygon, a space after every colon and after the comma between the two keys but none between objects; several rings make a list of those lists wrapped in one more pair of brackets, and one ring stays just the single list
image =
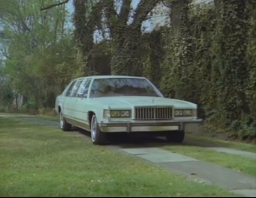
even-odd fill
[{"label": "bright, light green tree foliage at far left behind the limousine", "polygon": [[[83,62],[68,28],[64,6],[40,11],[35,1],[13,1],[3,14],[2,43],[8,54],[3,72],[6,83],[38,107],[53,107],[69,80],[83,74]],[[52,1],[42,3],[50,4]],[[26,109],[26,107],[23,107]],[[22,109],[21,109],[22,110]]]}]

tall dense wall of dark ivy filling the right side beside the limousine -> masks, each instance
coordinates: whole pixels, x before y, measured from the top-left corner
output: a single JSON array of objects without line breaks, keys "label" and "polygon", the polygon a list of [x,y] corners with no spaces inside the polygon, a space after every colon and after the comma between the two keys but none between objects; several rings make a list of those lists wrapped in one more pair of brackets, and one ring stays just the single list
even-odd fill
[{"label": "tall dense wall of dark ivy filling the right side beside the limousine", "polygon": [[162,91],[199,104],[206,121],[255,136],[255,3],[178,3],[180,21],[163,32]]}]

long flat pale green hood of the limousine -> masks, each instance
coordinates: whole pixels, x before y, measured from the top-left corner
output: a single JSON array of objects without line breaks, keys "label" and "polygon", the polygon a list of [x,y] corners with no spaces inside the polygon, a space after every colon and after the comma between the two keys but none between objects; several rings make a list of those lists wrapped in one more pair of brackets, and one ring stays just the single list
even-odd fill
[{"label": "long flat pale green hood of the limousine", "polygon": [[175,108],[195,109],[197,107],[197,105],[192,102],[150,96],[96,97],[92,98],[91,101],[96,102],[98,105],[104,105],[110,108],[131,108],[134,106],[173,106]]}]

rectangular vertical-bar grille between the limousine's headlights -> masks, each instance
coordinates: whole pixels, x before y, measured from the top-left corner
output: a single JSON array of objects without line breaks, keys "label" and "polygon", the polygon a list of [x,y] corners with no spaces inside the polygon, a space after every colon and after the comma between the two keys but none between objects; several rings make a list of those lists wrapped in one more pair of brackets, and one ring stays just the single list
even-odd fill
[{"label": "rectangular vertical-bar grille between the limousine's headlights", "polygon": [[135,119],[172,119],[172,107],[136,107]]}]

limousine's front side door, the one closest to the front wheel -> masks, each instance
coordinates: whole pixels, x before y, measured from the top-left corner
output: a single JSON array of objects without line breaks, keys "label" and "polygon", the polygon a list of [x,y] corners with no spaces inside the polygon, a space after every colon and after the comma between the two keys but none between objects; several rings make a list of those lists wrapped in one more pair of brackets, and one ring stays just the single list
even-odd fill
[{"label": "limousine's front side door, the one closest to the front wheel", "polygon": [[88,121],[88,89],[90,87],[91,79],[85,79],[76,93],[76,101],[74,102],[74,111],[78,126],[88,129],[90,124]]}]

